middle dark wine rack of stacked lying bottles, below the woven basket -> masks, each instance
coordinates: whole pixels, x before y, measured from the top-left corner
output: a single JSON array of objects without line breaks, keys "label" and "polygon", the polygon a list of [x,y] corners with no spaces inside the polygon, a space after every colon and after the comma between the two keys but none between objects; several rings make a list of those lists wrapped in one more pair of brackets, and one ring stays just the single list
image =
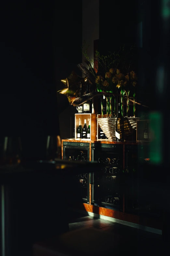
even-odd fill
[{"label": "middle dark wine rack of stacked lying bottles, below the woven basket", "polygon": [[92,173],[92,203],[122,211],[123,146],[94,143],[92,161],[101,163],[101,168]]}]

